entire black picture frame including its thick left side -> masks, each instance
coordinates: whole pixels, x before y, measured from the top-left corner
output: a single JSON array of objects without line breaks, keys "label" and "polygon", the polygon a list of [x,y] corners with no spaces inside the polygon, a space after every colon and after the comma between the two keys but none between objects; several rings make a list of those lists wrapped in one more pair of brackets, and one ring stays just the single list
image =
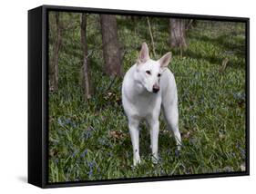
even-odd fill
[{"label": "entire black picture frame including its thick left side", "polygon": [[[48,12],[87,12],[93,14],[150,15],[158,17],[189,18],[216,21],[233,21],[246,24],[246,170],[241,172],[221,172],[212,174],[182,175],[157,178],[106,179],[49,183],[48,169]],[[205,179],[217,177],[244,176],[250,174],[250,19],[213,15],[184,15],[143,11],[111,10],[71,6],[42,5],[28,11],[28,183],[40,188],[57,188],[85,185],[102,185],[172,179]]]}]

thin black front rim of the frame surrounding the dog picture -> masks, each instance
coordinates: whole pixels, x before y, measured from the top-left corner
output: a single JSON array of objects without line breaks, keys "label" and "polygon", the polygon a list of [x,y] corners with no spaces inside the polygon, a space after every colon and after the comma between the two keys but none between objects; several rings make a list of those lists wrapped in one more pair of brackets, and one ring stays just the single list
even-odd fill
[{"label": "thin black front rim of the frame surrounding the dog picture", "polygon": [[[171,14],[159,12],[145,12],[132,10],[117,10],[117,9],[101,9],[88,7],[74,7],[74,6],[59,6],[59,5],[42,5],[37,8],[42,8],[42,184],[36,185],[41,188],[60,188],[60,187],[75,187],[75,186],[90,186],[90,185],[106,185],[106,184],[120,184],[120,183],[137,183],[148,181],[164,181],[164,180],[178,180],[178,179],[209,179],[209,178],[223,178],[236,176],[250,175],[250,18],[248,17],[230,17],[219,15],[186,15],[186,14]],[[36,9],[36,8],[35,8]],[[208,173],[208,174],[193,174],[193,175],[179,175],[172,177],[152,177],[152,178],[134,178],[134,179],[105,179],[105,180],[85,180],[75,182],[48,182],[48,88],[47,88],[47,61],[48,61],[48,43],[47,43],[47,16],[48,11],[63,11],[63,12],[91,12],[94,14],[116,14],[116,15],[148,15],[148,16],[162,16],[162,17],[177,17],[177,18],[193,18],[201,20],[217,20],[230,22],[243,22],[246,24],[246,170],[238,172],[223,172],[223,173]],[[29,119],[29,118],[28,118]]]}]

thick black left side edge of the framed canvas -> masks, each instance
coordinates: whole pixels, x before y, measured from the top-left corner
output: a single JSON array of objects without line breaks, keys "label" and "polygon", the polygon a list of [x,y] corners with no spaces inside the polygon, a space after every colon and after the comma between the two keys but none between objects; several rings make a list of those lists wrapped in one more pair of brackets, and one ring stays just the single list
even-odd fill
[{"label": "thick black left side edge of the framed canvas", "polygon": [[[28,11],[27,18],[27,49],[28,49],[28,66],[27,66],[27,181],[38,187],[43,187],[42,177],[42,149],[44,149],[42,141],[42,110],[41,101],[44,98],[42,91],[42,7],[37,7]],[[39,67],[39,68],[38,68]],[[32,118],[33,116],[33,118]]]}]

